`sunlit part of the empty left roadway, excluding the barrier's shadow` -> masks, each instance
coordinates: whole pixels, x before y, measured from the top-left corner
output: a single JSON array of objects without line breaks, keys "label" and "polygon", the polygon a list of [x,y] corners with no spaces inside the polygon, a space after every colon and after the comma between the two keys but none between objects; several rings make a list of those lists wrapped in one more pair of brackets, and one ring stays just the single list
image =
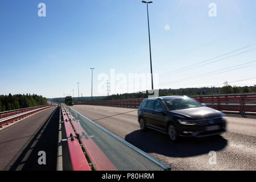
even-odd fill
[{"label": "sunlit part of the empty left roadway, excluding the barrier's shadow", "polygon": [[[38,130],[46,123],[55,108],[49,107],[46,110],[24,118],[23,121],[19,121],[0,130],[0,171],[9,170],[13,167],[13,164],[22,152],[24,152],[31,139],[38,133]],[[29,156],[24,157],[26,160],[29,159]],[[26,162],[23,161],[22,167],[24,165],[26,166]],[[21,169],[22,167],[17,169]]]}]

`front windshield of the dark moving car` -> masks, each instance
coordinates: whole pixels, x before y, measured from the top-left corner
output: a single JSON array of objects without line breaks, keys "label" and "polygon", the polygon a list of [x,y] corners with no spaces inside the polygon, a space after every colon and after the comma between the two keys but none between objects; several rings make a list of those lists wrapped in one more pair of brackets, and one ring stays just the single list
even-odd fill
[{"label": "front windshield of the dark moving car", "polygon": [[177,110],[177,109],[188,109],[191,107],[201,107],[199,102],[193,100],[189,97],[182,98],[171,98],[165,100],[168,110]]}]

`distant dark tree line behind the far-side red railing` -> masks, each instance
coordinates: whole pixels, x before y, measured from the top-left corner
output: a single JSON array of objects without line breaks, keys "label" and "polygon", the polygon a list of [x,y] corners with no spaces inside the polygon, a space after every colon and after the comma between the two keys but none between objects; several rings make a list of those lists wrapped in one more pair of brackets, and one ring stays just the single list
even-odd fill
[{"label": "distant dark tree line behind the far-side red railing", "polygon": [[[180,88],[180,89],[159,89],[159,96],[203,96],[203,95],[212,95],[212,94],[232,94],[232,93],[250,93],[256,92],[256,85],[254,86],[230,86],[228,82],[224,83],[222,87],[202,87],[202,88]],[[100,96],[93,97],[93,101],[97,100],[122,100],[129,98],[147,98],[148,91],[145,93],[123,93],[123,94],[113,94],[111,96]],[[64,98],[51,98],[48,99],[53,102],[64,102]],[[90,97],[80,97],[79,100],[77,97],[73,98],[73,102],[86,102],[92,101]]]}]

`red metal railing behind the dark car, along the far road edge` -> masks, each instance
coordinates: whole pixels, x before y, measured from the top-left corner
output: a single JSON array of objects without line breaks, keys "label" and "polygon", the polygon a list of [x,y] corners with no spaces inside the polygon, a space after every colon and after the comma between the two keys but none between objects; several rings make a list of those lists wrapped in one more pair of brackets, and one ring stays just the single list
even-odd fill
[{"label": "red metal railing behind the dark car, along the far road edge", "polygon": [[[207,104],[213,109],[223,111],[256,112],[256,93],[247,94],[225,94],[211,96],[191,96],[200,103]],[[122,106],[122,107],[139,107],[143,98],[127,100],[102,100],[79,102],[75,105],[101,105],[101,106]]]}]

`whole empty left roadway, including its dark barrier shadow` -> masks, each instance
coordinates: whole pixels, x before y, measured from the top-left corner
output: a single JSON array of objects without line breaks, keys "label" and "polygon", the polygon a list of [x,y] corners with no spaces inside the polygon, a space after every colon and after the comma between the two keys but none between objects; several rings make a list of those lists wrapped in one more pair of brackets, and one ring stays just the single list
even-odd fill
[{"label": "whole empty left roadway, including its dark barrier shadow", "polygon": [[[59,126],[56,108],[49,107],[0,130],[0,171],[56,170]],[[46,165],[39,166],[39,151],[46,151]]]}]

